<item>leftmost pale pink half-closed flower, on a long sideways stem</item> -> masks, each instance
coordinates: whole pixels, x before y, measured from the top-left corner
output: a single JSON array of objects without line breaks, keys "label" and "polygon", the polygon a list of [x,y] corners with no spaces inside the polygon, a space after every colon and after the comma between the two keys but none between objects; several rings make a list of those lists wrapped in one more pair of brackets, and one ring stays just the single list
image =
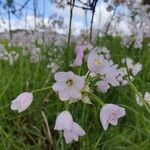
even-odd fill
[{"label": "leftmost pale pink half-closed flower, on a long sideways stem", "polygon": [[33,94],[30,92],[21,93],[16,99],[11,102],[11,109],[22,112],[26,110],[33,101]]}]

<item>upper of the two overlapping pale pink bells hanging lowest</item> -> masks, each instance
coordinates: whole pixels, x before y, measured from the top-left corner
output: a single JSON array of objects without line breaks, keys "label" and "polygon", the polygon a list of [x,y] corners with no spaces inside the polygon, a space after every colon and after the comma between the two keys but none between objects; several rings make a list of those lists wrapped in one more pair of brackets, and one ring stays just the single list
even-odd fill
[{"label": "upper of the two overlapping pale pink bells hanging lowest", "polygon": [[73,126],[73,118],[69,111],[61,112],[55,122],[54,130],[68,130],[70,131]]}]

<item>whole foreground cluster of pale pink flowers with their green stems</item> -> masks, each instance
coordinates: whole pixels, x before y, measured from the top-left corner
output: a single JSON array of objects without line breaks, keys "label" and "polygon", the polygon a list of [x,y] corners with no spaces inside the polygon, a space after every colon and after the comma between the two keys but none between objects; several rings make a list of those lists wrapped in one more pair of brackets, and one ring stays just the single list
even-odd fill
[{"label": "whole foreground cluster of pale pink flowers with their green stems", "polygon": [[[87,56],[85,56],[85,49],[89,52]],[[117,125],[118,120],[125,116],[126,111],[125,108],[112,104],[111,102],[105,104],[104,101],[95,94],[95,88],[97,88],[99,92],[105,93],[111,87],[127,84],[128,80],[126,80],[126,76],[128,72],[131,72],[135,77],[142,69],[142,65],[140,63],[135,64],[131,58],[123,58],[122,63],[126,65],[126,67],[119,68],[119,66],[114,64],[111,60],[110,51],[107,48],[93,48],[91,45],[78,45],[76,47],[76,65],[73,67],[82,67],[83,62],[86,62],[87,65],[86,74],[78,75],[72,71],[61,71],[54,74],[56,82],[53,84],[52,89],[58,94],[59,99],[65,102],[66,106],[65,110],[57,116],[54,130],[58,130],[63,134],[67,144],[78,141],[80,136],[86,134],[84,129],[73,120],[69,112],[69,105],[78,101],[94,105],[95,101],[97,101],[101,106],[99,120],[104,130],[107,130],[109,124]],[[50,67],[53,66],[55,66],[55,63]],[[20,94],[11,102],[11,109],[17,110],[19,113],[25,111],[33,101],[34,92],[49,88],[51,87]],[[142,97],[141,93],[137,93],[136,101],[138,105],[142,106],[145,102],[150,105],[150,93],[146,92],[144,99]]]}]

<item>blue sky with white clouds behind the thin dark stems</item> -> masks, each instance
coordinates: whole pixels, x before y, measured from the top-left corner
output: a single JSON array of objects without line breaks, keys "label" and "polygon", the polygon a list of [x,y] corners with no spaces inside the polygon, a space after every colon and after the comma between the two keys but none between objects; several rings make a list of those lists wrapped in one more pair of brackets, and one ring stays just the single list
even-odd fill
[{"label": "blue sky with white clouds behind the thin dark stems", "polygon": [[[4,2],[5,0],[2,0]],[[67,0],[66,0],[67,1]],[[86,1],[86,0],[83,0]],[[101,0],[100,0],[101,1]],[[106,3],[100,2],[98,3],[96,7],[96,13],[94,17],[94,27],[95,28],[102,28],[105,25],[105,22],[109,20],[109,18],[112,15],[112,12],[107,12],[106,11]],[[20,8],[26,0],[14,0],[14,4],[16,8]],[[6,10],[2,9],[2,4],[0,4],[0,31],[4,31],[5,29],[8,29],[8,16]],[[52,4],[50,0],[45,0],[45,5],[44,5],[44,0],[37,0],[37,15],[42,16],[45,8],[45,24],[48,21],[48,18],[56,14],[58,16],[64,17],[64,23],[66,27],[69,24],[69,6],[65,7],[65,9],[60,9],[57,8],[56,5]],[[128,11],[125,7],[120,7],[118,8],[118,12],[126,12],[128,14]],[[27,14],[27,25],[26,28],[32,29],[34,28],[34,17],[33,17],[33,0],[30,0],[28,5],[26,5],[25,9],[22,11],[21,17],[16,17],[14,15],[11,15],[11,24],[12,24],[12,29],[24,29],[25,28],[25,14]],[[91,12],[88,12],[88,27],[90,24],[90,18],[91,18]],[[38,20],[38,19],[37,19]],[[3,21],[5,24],[3,24]],[[73,12],[73,21],[72,21],[72,30],[73,34],[78,35],[80,33],[81,29],[85,29],[85,11],[79,8],[74,8]],[[123,23],[124,30],[127,29],[126,22]],[[66,29],[59,29],[56,27],[55,29],[59,33],[65,33],[67,32]]]}]

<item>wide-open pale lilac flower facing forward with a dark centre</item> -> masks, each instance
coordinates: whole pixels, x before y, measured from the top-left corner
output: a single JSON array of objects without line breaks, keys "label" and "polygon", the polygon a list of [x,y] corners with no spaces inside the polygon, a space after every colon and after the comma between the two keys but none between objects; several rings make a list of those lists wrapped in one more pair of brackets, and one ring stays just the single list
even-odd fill
[{"label": "wide-open pale lilac flower facing forward with a dark centre", "polygon": [[59,98],[62,101],[70,99],[81,99],[81,90],[84,87],[85,79],[73,72],[58,72],[54,76],[57,81],[52,86],[53,90],[59,93]]}]

